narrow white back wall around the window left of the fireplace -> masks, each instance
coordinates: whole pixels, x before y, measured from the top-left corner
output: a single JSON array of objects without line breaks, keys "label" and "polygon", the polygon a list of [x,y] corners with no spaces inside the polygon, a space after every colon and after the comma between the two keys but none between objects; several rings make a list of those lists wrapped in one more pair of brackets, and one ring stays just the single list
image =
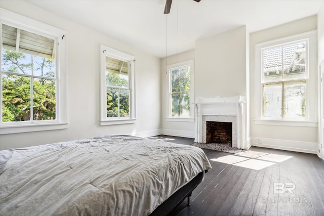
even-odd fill
[{"label": "narrow white back wall around the window left of the fireplace", "polygon": [[[176,64],[192,60],[195,58],[194,50],[188,52],[179,53],[179,55],[168,56],[160,61],[161,65],[161,133],[164,135],[181,136],[194,138],[195,135],[195,123],[194,122],[179,122],[179,121],[166,121],[167,116],[167,65]],[[195,64],[195,62],[194,62]],[[191,106],[194,107],[194,106]]]}]

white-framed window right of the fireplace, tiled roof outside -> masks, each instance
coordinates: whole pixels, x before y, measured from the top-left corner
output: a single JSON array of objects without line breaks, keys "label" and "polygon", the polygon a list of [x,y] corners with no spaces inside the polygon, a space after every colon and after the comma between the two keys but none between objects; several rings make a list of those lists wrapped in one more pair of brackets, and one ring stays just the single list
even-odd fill
[{"label": "white-framed window right of the fireplace, tiled roof outside", "polygon": [[314,125],[315,35],[307,32],[256,45],[257,123]]}]

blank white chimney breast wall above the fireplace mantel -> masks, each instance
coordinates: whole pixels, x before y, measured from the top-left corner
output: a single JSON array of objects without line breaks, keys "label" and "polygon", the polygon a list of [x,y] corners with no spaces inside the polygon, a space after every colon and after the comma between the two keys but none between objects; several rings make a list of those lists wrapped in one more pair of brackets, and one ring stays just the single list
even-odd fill
[{"label": "blank white chimney breast wall above the fireplace mantel", "polygon": [[[195,43],[195,97],[243,95],[249,112],[249,33],[241,26]],[[245,128],[249,127],[245,119]],[[249,129],[244,133],[249,145]]]}]

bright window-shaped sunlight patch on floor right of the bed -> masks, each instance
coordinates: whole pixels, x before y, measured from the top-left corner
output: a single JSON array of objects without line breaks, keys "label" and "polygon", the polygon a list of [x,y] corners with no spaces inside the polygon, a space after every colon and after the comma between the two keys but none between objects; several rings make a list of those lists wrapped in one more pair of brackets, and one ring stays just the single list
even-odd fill
[{"label": "bright window-shaped sunlight patch on floor right of the bed", "polygon": [[292,156],[248,150],[235,155],[226,155],[219,158],[213,158],[211,160],[249,169],[260,170],[276,163],[284,162],[290,158],[292,158]]}]

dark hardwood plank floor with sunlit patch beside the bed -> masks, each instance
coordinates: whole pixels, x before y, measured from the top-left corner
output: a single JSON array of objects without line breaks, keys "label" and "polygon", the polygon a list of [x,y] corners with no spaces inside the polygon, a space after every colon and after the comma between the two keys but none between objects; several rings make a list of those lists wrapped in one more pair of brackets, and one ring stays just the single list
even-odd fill
[{"label": "dark hardwood plank floor with sunlit patch beside the bed", "polygon": [[191,205],[185,200],[169,215],[324,215],[324,163],[317,155],[259,147],[204,152],[213,168],[193,191]]}]

